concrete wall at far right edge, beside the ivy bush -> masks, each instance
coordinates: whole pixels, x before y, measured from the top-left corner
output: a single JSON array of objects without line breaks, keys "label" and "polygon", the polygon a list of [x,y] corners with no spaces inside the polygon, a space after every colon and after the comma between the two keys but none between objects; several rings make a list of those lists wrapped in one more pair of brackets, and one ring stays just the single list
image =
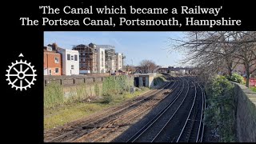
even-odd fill
[{"label": "concrete wall at far right edge, beside the ivy bush", "polygon": [[234,83],[237,99],[236,130],[238,142],[256,142],[256,93]]}]

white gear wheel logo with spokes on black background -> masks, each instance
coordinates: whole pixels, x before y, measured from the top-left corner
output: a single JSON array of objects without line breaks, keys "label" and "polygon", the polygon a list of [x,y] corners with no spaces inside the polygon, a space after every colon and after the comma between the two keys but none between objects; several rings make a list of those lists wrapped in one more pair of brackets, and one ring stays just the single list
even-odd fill
[{"label": "white gear wheel logo with spokes on black background", "polygon": [[[19,65],[19,70],[16,69],[16,67]],[[15,67],[16,66],[16,67]],[[23,70],[23,67],[26,66],[26,70]],[[22,62],[22,60],[20,60],[20,62],[16,61],[11,62],[11,66],[8,66],[9,70],[6,70],[7,74],[7,79],[6,81],[8,81],[8,85],[12,85],[11,88],[16,88],[16,90],[21,90],[26,88],[31,88],[31,85],[34,85],[34,81],[36,81],[35,76],[37,76],[37,74],[35,74],[36,70],[34,70],[34,66],[31,66],[31,63],[27,63],[26,61]],[[16,74],[11,74],[10,71],[14,70],[16,72]],[[27,74],[27,71],[30,70],[30,72],[32,72],[32,74]],[[30,78],[29,78],[30,77]],[[32,78],[31,78],[32,77]],[[28,80],[27,78],[29,78],[30,80]],[[14,79],[14,80],[11,80]],[[16,84],[19,82],[19,86]]]}]

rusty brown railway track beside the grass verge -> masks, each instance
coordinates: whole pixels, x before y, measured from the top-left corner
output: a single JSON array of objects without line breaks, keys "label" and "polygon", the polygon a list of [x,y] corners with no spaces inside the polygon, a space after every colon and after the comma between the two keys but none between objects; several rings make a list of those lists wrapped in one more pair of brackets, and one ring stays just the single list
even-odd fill
[{"label": "rusty brown railway track beside the grass verge", "polygon": [[[168,77],[168,76],[167,76]],[[53,136],[51,136],[51,138],[48,138],[48,140],[46,140],[46,142],[72,142],[77,138],[82,137],[85,134],[89,134],[92,131],[98,130],[98,127],[103,128],[103,130],[105,130],[106,128],[104,127],[110,127],[117,125],[117,123],[113,124],[108,124],[108,125],[103,125],[103,126],[99,126],[98,124],[100,123],[109,123],[109,122],[116,122],[118,119],[118,117],[120,117],[120,115],[125,114],[126,112],[130,111],[130,118],[133,118],[132,114],[135,114],[134,110],[138,110],[138,108],[136,109],[136,107],[138,107],[138,105],[142,104],[142,103],[147,103],[147,109],[143,110],[149,110],[150,107],[154,106],[154,102],[159,101],[160,99],[158,98],[159,96],[163,96],[166,93],[170,93],[171,89],[177,85],[175,85],[177,83],[177,80],[175,80],[175,78],[168,78],[170,79],[169,84],[163,85],[161,87],[159,87],[158,89],[160,90],[152,90],[146,94],[143,94],[145,96],[143,96],[141,99],[134,99],[133,102],[130,102],[128,106],[123,106],[121,109],[120,107],[113,109],[113,110],[109,110],[107,111],[107,113],[110,114],[106,114],[105,116],[102,116],[103,114],[99,114],[98,118],[99,120],[97,122],[90,122],[90,119],[87,120],[86,122],[82,122],[80,123],[78,126],[72,126],[67,130],[62,130],[62,132],[55,134]],[[166,83],[165,83],[166,84]],[[174,87],[172,90],[174,90],[176,87]],[[126,117],[127,118],[127,117]],[[122,124],[119,123],[118,126],[122,126]]]}]

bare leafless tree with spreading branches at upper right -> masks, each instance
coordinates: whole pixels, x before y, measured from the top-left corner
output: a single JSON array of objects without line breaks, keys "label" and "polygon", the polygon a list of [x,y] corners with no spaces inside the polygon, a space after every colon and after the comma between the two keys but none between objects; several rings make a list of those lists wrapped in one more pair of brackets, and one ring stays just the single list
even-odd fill
[{"label": "bare leafless tree with spreading branches at upper right", "polygon": [[222,72],[231,75],[241,63],[247,75],[255,71],[251,70],[255,67],[255,32],[193,31],[185,35],[182,40],[170,38],[170,52],[184,51],[186,58],[182,63],[197,66],[198,74],[210,76]]}]

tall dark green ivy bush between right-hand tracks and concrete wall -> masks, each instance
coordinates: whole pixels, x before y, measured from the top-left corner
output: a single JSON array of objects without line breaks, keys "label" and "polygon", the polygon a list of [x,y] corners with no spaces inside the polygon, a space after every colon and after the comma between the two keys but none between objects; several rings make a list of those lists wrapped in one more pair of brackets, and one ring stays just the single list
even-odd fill
[{"label": "tall dark green ivy bush between right-hand tracks and concrete wall", "polygon": [[235,141],[234,86],[224,77],[217,76],[206,85],[206,125],[219,135],[219,142]]}]

